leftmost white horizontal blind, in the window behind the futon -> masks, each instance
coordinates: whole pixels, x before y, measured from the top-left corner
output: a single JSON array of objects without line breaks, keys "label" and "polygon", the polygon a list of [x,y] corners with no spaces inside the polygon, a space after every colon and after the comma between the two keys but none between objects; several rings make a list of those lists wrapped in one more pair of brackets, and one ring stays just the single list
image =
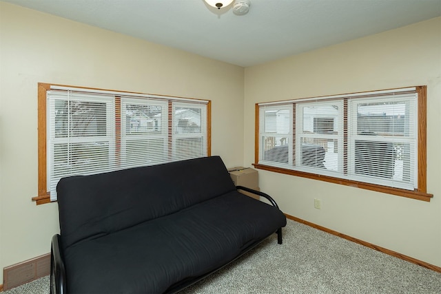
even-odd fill
[{"label": "leftmost white horizontal blind, in the window behind the futon", "polygon": [[108,95],[50,91],[48,95],[48,191],[70,175],[114,168],[114,98]]}]

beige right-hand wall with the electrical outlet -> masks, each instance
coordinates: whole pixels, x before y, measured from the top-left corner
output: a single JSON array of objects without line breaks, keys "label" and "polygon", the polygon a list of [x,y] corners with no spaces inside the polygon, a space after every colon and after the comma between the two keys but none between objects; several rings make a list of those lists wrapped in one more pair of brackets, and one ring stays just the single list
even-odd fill
[{"label": "beige right-hand wall with the electrical outlet", "polygon": [[441,18],[247,67],[244,163],[254,162],[255,103],[414,85],[427,85],[431,202],[269,171],[260,188],[291,216],[441,266]]}]

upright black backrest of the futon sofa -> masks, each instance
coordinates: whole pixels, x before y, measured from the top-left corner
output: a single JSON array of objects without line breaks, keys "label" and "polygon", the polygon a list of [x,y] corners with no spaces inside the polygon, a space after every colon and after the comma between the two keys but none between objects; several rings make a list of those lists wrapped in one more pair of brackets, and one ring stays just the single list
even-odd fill
[{"label": "upright black backrest of the futon sofa", "polygon": [[62,178],[57,197],[63,248],[235,189],[219,156]]}]

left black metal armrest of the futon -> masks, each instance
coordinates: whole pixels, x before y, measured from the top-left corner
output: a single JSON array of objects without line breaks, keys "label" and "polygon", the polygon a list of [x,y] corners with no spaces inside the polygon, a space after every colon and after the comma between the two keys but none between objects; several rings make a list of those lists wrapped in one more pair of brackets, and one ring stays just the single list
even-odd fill
[{"label": "left black metal armrest of the futon", "polygon": [[61,254],[61,235],[52,237],[50,248],[50,294],[65,294],[66,273],[64,268],[63,255]]}]

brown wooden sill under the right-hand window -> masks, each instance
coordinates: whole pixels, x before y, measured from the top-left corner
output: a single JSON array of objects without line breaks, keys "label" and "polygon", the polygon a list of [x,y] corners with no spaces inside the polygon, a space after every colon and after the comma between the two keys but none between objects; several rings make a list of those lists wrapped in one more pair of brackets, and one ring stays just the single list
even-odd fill
[{"label": "brown wooden sill under the right-hand window", "polygon": [[263,169],[265,171],[274,171],[279,174],[287,174],[291,176],[299,176],[302,178],[311,178],[313,180],[322,180],[325,182],[333,182],[334,184],[340,184],[350,187],[356,187],[360,189],[366,189],[371,191],[377,191],[381,193],[387,193],[391,195],[412,198],[416,200],[422,200],[426,202],[430,202],[431,198],[433,198],[433,194],[425,193],[422,191],[409,191],[405,189],[398,189],[393,187],[385,187],[380,185],[369,184],[366,182],[357,182],[354,180],[345,180],[341,178],[334,178],[331,176],[322,176],[318,174],[309,174],[303,171],[293,171],[291,169],[282,169],[280,167],[270,167],[268,165],[259,165],[258,163],[253,164],[256,169]]}]

